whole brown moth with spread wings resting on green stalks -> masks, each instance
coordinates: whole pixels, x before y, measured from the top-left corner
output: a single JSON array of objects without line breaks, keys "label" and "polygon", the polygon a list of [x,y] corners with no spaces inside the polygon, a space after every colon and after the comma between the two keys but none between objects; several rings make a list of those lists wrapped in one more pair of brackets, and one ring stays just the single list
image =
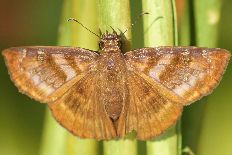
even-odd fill
[{"label": "whole brown moth with spread wings resting on green stalks", "polygon": [[78,47],[13,47],[3,51],[12,81],[47,103],[55,119],[81,138],[137,139],[163,133],[183,106],[219,84],[230,52],[219,48],[148,47],[125,54],[114,31],[98,52]]}]

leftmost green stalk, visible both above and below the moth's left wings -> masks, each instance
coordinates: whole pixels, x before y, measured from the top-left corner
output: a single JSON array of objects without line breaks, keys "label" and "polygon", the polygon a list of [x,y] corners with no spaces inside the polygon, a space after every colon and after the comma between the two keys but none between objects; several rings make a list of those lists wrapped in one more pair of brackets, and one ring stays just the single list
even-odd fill
[{"label": "leftmost green stalk, visible both above and below the moth's left wings", "polygon": [[[71,45],[71,27],[67,18],[71,16],[71,1],[65,0],[59,27],[58,45]],[[46,110],[44,130],[40,155],[64,155],[66,153],[67,131],[52,117],[49,109]]]}]

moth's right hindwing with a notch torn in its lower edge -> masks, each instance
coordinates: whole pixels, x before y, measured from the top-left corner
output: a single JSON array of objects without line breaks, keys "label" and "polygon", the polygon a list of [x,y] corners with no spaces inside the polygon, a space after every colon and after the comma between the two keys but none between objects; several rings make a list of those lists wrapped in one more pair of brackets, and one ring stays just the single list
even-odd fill
[{"label": "moth's right hindwing with a notch torn in its lower edge", "polygon": [[117,134],[135,130],[137,139],[148,140],[163,133],[181,115],[183,105],[173,102],[159,88],[134,72],[128,72],[129,102],[119,118]]}]

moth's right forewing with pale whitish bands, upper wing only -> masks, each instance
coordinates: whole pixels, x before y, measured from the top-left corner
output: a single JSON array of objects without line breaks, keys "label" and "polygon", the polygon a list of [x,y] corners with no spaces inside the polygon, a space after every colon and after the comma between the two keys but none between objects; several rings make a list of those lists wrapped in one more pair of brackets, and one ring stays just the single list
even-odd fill
[{"label": "moth's right forewing with pale whitish bands, upper wing only", "polygon": [[162,84],[183,104],[208,95],[219,84],[230,53],[218,48],[157,47],[127,52],[129,70]]}]

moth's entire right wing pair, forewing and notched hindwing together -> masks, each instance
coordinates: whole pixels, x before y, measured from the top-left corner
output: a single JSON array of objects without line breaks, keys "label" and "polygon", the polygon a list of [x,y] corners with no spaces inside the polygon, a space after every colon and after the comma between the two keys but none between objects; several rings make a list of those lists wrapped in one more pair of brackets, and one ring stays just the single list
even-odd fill
[{"label": "moth's entire right wing pair, forewing and notched hindwing together", "polygon": [[135,130],[151,139],[173,125],[183,105],[209,94],[228,64],[230,53],[196,47],[142,48],[125,53],[130,101],[117,134]]}]

